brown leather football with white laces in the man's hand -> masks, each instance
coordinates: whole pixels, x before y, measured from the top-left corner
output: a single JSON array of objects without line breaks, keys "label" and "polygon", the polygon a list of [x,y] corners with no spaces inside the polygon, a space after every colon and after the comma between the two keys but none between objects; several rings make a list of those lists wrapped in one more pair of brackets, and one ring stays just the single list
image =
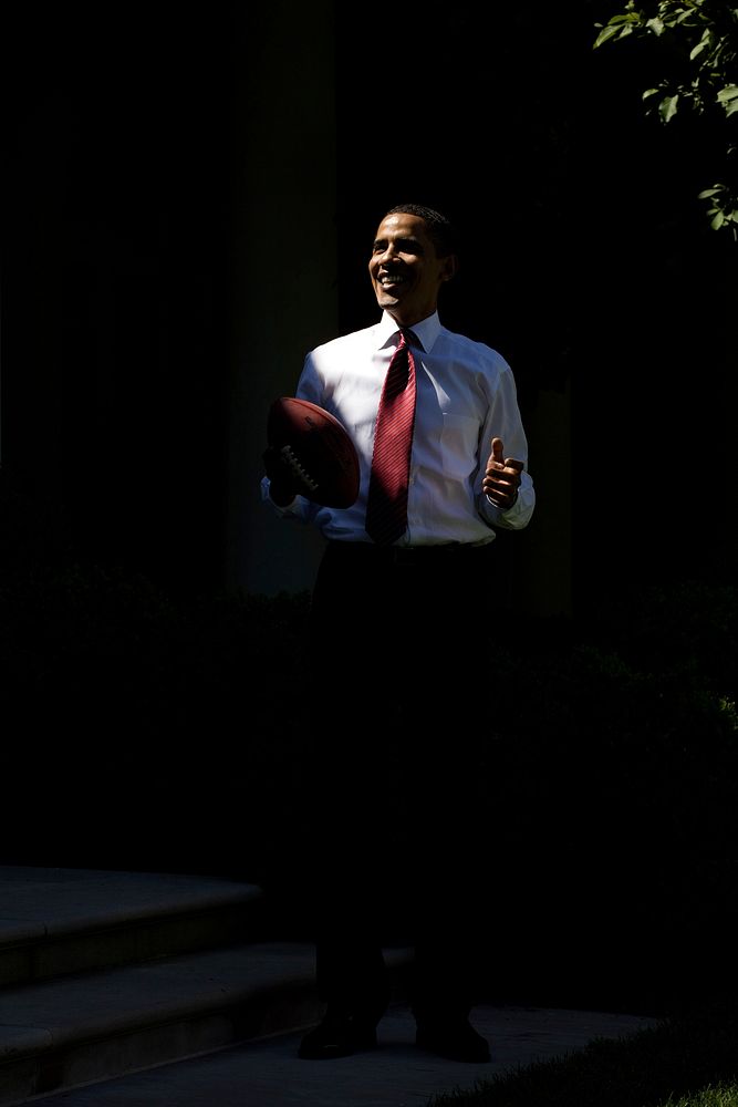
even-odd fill
[{"label": "brown leather football with white laces in the man's hand", "polygon": [[269,410],[267,442],[277,449],[301,495],[325,507],[351,507],[358,496],[358,455],[349,432],[309,400],[280,396]]}]

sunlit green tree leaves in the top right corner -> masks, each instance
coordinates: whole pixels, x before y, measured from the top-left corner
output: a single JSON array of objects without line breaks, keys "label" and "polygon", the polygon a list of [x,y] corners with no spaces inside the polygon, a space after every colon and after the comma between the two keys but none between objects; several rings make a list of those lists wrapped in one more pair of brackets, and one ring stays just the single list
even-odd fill
[{"label": "sunlit green tree leaves in the top right corner", "polygon": [[658,0],[625,8],[606,23],[594,49],[624,39],[658,43],[661,75],[643,92],[646,114],[671,123],[692,113],[710,127],[719,179],[699,193],[715,230],[738,240],[738,7],[724,0]]}]

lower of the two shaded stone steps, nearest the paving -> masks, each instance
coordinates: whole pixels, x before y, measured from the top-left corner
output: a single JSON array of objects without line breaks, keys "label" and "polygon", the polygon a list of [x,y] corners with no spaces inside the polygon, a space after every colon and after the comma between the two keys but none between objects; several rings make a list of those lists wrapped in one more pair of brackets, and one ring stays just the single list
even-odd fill
[{"label": "lower of the two shaded stone steps, nearest the paving", "polygon": [[199,1056],[315,1015],[309,948],[254,943],[0,993],[0,1104]]}]

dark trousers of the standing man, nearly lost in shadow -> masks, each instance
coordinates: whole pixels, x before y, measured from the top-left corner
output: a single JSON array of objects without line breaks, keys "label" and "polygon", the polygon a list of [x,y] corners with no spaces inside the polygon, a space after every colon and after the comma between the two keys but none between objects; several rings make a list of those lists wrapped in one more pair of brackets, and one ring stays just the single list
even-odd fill
[{"label": "dark trousers of the standing man, nearly lost in shadow", "polygon": [[[485,673],[491,547],[330,544],[311,612],[318,983],[376,1022],[382,946],[415,948],[420,1021],[466,1015],[488,910]],[[489,880],[488,880],[489,878]]]}]

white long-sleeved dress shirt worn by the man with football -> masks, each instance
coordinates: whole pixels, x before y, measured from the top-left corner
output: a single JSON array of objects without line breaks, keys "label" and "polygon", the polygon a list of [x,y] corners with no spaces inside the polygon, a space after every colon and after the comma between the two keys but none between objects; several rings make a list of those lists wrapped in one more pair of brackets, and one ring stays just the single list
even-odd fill
[{"label": "white long-sleeved dress shirt worn by the man with football", "polygon": [[[396,545],[485,545],[495,540],[495,527],[522,529],[533,514],[536,493],[510,366],[490,346],[447,330],[437,312],[410,330],[417,401],[407,530]],[[361,464],[358,498],[352,507],[333,508],[298,496],[280,508],[269,498],[267,477],[262,496],[280,515],[313,523],[328,539],[371,541],[364,519],[374,425],[398,341],[396,321],[383,312],[374,327],[333,339],[305,358],[295,395],[326,408],[349,431]],[[507,511],[481,490],[496,435],[505,456],[526,466],[518,499]]]}]

